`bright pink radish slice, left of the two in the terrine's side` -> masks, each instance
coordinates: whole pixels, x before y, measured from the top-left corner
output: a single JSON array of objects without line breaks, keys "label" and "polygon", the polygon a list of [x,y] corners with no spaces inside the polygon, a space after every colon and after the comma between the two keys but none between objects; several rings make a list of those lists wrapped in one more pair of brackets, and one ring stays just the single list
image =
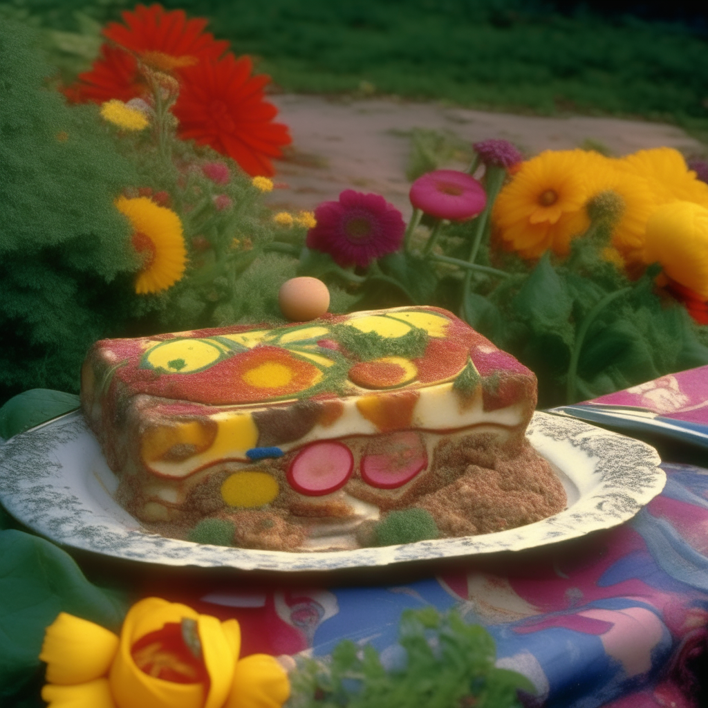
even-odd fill
[{"label": "bright pink radish slice, left of the two in the terrine's side", "polygon": [[329,494],[344,486],[354,469],[354,456],[341,442],[313,442],[303,447],[287,469],[287,481],[308,496]]}]

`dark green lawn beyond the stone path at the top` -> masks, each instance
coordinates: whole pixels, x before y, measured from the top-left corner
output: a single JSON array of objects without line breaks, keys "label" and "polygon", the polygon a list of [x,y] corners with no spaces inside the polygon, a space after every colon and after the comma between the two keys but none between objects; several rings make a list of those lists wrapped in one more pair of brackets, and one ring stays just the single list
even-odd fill
[{"label": "dark green lawn beyond the stone path at the top", "polygon": [[[76,31],[127,0],[13,0]],[[708,139],[708,40],[679,24],[561,15],[534,0],[164,0],[283,91],[395,94],[516,113],[664,120]]]}]

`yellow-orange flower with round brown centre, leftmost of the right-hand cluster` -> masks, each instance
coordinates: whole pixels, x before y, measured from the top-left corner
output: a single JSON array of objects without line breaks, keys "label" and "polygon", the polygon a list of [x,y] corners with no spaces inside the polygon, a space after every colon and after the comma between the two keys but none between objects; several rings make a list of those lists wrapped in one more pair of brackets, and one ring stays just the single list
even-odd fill
[{"label": "yellow-orange flower with round brown centre, leftmost of the right-hand cluster", "polygon": [[584,150],[546,150],[524,162],[499,193],[493,222],[501,239],[524,258],[547,249],[565,255],[573,236],[588,229]]}]

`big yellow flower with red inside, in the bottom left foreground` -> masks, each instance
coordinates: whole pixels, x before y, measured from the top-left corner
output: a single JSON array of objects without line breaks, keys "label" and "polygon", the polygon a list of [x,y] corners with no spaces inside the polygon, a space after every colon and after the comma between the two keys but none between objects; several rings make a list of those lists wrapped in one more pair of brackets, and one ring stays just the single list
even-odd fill
[{"label": "big yellow flower with red inside, in the bottom left foreground", "polygon": [[280,708],[285,670],[263,654],[239,661],[240,648],[235,619],[159,598],[131,608],[120,639],[62,613],[42,646],[42,698],[50,708]]}]

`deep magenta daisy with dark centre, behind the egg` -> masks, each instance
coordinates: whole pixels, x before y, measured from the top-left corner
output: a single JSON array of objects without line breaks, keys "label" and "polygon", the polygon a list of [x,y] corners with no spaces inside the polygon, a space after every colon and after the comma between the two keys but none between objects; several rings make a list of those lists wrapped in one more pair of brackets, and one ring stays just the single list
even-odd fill
[{"label": "deep magenta daisy with dark centre, behind the egg", "polygon": [[336,263],[366,267],[374,258],[401,246],[406,230],[401,212],[378,194],[346,189],[338,202],[314,210],[317,225],[307,232],[307,247],[329,253]]}]

